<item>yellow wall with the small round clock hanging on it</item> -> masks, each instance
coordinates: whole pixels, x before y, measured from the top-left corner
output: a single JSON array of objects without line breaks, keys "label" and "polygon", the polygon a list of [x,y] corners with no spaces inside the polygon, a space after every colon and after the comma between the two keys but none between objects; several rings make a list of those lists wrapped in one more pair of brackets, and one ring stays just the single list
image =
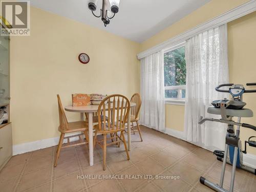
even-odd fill
[{"label": "yellow wall with the small round clock hanging on it", "polygon": [[58,136],[56,94],[67,105],[72,93],[139,91],[139,44],[65,17],[31,7],[31,36],[11,37],[10,46],[14,145]]}]

